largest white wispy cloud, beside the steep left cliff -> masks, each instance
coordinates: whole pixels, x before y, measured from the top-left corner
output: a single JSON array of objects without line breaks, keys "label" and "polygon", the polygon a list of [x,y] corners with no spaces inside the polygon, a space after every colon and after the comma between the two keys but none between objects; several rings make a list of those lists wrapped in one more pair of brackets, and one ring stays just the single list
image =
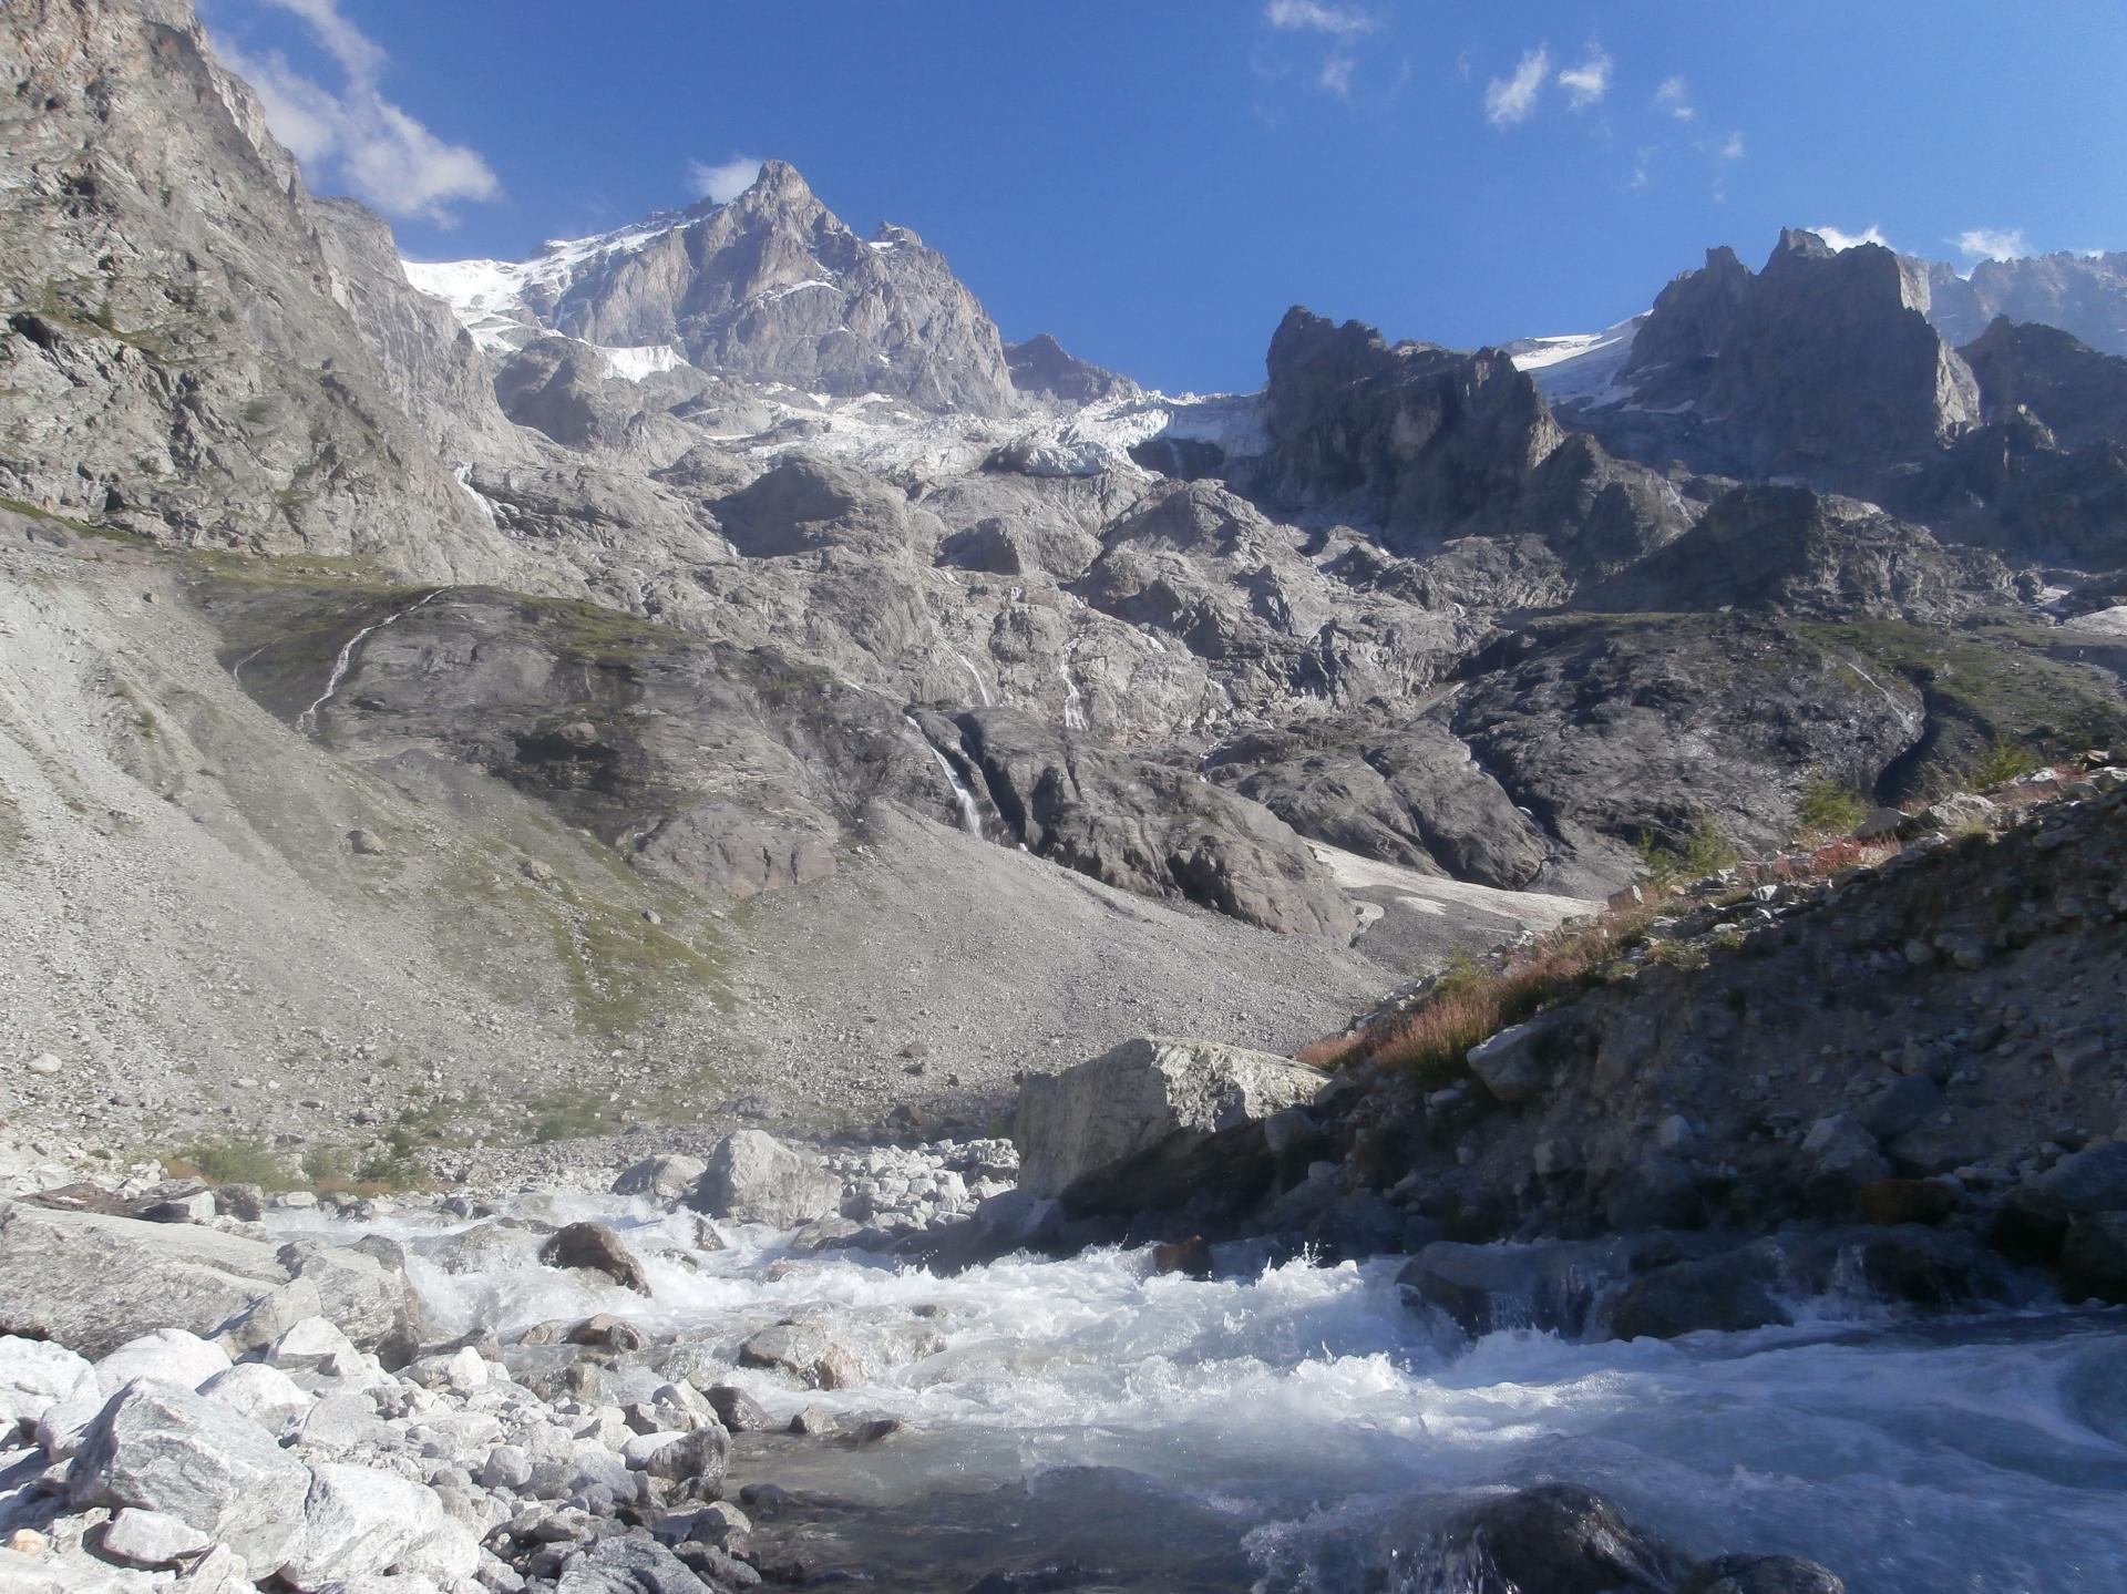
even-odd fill
[{"label": "largest white wispy cloud, beside the steep left cliff", "polygon": [[455,221],[453,204],[502,192],[476,149],[438,138],[383,96],[385,51],[340,15],[338,0],[262,2],[300,17],[345,79],[334,89],[298,72],[281,51],[251,57],[217,45],[221,60],[257,89],[274,138],[313,177],[336,168],[379,211],[445,228]]}]

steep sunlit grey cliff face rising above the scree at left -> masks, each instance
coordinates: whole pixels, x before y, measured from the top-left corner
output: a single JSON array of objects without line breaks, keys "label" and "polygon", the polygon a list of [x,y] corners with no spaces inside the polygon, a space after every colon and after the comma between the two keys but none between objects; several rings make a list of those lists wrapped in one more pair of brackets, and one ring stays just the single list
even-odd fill
[{"label": "steep sunlit grey cliff face rising above the scree at left", "polygon": [[415,377],[364,343],[357,321],[381,345],[436,328],[376,268],[381,223],[311,200],[189,6],[11,6],[0,66],[0,489],[179,545],[500,575],[421,426],[479,409],[464,349]]}]

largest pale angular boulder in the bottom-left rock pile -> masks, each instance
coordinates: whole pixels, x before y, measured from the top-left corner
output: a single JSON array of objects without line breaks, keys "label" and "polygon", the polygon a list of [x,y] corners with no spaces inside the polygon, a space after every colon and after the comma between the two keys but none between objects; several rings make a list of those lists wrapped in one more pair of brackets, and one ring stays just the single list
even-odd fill
[{"label": "largest pale angular boulder in the bottom-left rock pile", "polygon": [[68,1471],[77,1511],[177,1517],[251,1566],[279,1566],[304,1522],[311,1471],[257,1424],[162,1383],[128,1383],[89,1424]]}]

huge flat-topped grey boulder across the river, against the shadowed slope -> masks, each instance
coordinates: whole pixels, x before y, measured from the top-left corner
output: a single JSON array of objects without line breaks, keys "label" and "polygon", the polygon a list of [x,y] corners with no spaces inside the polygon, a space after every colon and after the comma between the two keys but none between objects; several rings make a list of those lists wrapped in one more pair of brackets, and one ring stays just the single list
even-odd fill
[{"label": "huge flat-topped grey boulder across the river, against the shadowed slope", "polygon": [[1215,1041],[1142,1036],[1019,1087],[1019,1188],[1078,1211],[1163,1207],[1270,1183],[1263,1119],[1312,1102],[1317,1068]]}]

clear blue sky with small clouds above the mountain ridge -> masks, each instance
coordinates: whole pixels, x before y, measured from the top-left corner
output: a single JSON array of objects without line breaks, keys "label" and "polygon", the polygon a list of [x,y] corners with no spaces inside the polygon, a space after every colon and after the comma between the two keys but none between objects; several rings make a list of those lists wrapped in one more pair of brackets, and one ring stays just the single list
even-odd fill
[{"label": "clear blue sky with small clouds above the mountain ridge", "polygon": [[521,258],[781,155],[1008,338],[1244,389],[1289,304],[1593,330],[1782,223],[2127,247],[2118,0],[200,0],[313,187]]}]

